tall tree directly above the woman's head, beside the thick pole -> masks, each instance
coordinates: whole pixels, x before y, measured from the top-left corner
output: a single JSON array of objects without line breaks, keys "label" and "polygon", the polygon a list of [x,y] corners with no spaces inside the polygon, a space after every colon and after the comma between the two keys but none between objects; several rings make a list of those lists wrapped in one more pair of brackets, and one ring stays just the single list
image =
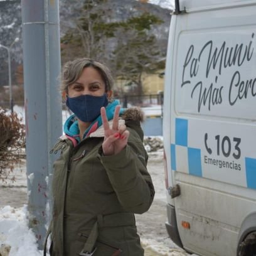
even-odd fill
[{"label": "tall tree directly above the woman's head, beside the thick pole", "polygon": [[107,0],[86,0],[75,28],[61,38],[63,60],[87,56],[96,60],[109,59],[110,38],[117,23],[111,22],[112,9]]}]

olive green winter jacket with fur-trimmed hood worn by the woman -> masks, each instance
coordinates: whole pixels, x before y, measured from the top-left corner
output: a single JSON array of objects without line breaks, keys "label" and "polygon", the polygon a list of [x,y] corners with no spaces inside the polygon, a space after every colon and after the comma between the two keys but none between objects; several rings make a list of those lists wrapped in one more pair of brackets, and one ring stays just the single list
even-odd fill
[{"label": "olive green winter jacket with fur-trimmed hood worn by the woman", "polygon": [[65,136],[56,144],[61,154],[53,174],[51,255],[144,255],[134,213],[149,210],[154,187],[140,116],[130,109],[119,120],[130,136],[114,156],[102,154],[103,127],[75,147]]}]

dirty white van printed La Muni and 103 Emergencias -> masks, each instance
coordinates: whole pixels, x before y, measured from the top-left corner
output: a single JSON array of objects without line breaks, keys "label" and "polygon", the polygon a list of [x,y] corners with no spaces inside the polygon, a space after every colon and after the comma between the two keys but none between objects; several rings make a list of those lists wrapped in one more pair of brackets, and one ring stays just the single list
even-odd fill
[{"label": "dirty white van printed La Muni and 103 Emergencias", "polygon": [[169,236],[256,255],[256,1],[176,1],[165,74]]}]

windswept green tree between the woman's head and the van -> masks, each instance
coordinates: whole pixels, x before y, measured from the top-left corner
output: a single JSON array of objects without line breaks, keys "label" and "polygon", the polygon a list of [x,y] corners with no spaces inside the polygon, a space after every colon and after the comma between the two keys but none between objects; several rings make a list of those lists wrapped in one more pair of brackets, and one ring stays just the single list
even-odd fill
[{"label": "windswept green tree between the woman's head and the van", "polygon": [[117,36],[117,46],[112,63],[115,75],[130,84],[136,85],[137,95],[142,95],[142,73],[154,73],[164,68],[165,59],[157,45],[156,36],[149,33],[153,24],[161,20],[156,16],[143,13],[122,23]]}]

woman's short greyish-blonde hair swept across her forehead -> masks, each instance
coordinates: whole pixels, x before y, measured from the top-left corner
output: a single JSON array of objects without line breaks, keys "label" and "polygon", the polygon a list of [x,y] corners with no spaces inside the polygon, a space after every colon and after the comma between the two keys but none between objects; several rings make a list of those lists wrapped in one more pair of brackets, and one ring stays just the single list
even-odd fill
[{"label": "woman's short greyish-blonde hair swept across her forehead", "polygon": [[68,61],[63,66],[60,85],[61,92],[68,92],[68,87],[78,80],[82,75],[83,69],[87,67],[93,67],[100,73],[105,83],[105,92],[111,90],[114,79],[106,65],[90,58],[78,58]]}]

